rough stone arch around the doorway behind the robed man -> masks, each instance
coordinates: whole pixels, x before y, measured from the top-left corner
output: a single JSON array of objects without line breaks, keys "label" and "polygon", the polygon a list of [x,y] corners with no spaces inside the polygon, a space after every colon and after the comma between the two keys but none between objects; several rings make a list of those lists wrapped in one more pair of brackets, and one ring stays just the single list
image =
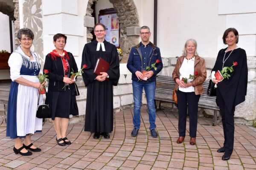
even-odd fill
[{"label": "rough stone arch around the doorway behind the robed man", "polygon": [[[89,0],[87,5],[87,16],[92,16],[93,9],[91,6],[97,0]],[[139,35],[127,35],[127,27],[139,27],[139,15],[133,0],[109,0],[114,9],[117,11],[119,19],[119,44],[123,51],[123,59],[121,62],[125,63],[128,60],[130,49],[139,42]],[[97,17],[97,16],[96,16]],[[93,28],[87,27],[87,42],[92,40],[91,31]]]}]

